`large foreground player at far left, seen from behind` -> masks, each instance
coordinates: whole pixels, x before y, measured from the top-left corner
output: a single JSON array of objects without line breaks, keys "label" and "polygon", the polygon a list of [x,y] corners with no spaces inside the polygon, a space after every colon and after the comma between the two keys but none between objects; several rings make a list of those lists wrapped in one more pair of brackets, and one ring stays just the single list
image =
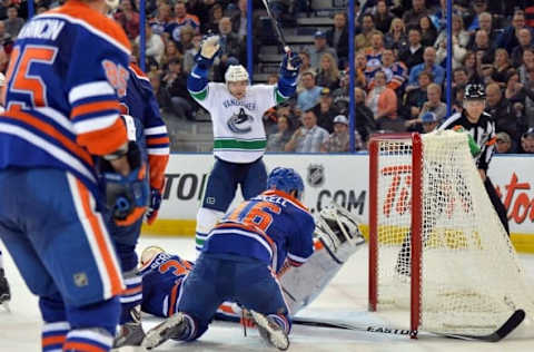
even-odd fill
[{"label": "large foreground player at far left, seen from behind", "polygon": [[[0,237],[39,296],[43,351],[109,351],[125,289],[102,217],[142,214],[145,166],[119,118],[130,45],[105,0],[69,0],[20,30],[0,115]],[[101,194],[96,160],[109,163]],[[111,203],[109,203],[111,204]],[[125,204],[126,205],[126,204]]]}]

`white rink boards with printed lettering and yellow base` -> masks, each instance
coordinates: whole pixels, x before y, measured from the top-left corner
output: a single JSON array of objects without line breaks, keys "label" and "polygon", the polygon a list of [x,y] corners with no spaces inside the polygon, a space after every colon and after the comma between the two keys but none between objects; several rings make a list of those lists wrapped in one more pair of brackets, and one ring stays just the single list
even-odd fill
[{"label": "white rink boards with printed lettering and yellow base", "polygon": [[[276,166],[295,168],[305,179],[304,203],[318,212],[332,201],[368,223],[368,155],[363,154],[269,154],[268,170]],[[166,187],[159,218],[144,233],[194,235],[196,213],[214,163],[211,154],[172,154],[166,173]],[[534,157],[494,156],[488,175],[507,208],[512,239],[520,252],[534,253]],[[405,175],[398,175],[403,179]],[[392,211],[406,216],[394,198]],[[235,205],[240,201],[240,193]],[[366,229],[366,225],[364,226]]]}]

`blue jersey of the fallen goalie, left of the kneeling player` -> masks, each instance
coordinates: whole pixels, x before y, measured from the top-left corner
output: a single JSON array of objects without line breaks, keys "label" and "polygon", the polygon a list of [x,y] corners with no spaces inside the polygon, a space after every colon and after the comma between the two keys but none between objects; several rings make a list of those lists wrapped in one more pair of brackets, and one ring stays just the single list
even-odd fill
[{"label": "blue jersey of the fallen goalie, left of the kneeling player", "polygon": [[171,316],[176,313],[181,281],[192,268],[192,263],[165,252],[156,255],[141,268],[142,305],[146,313]]}]

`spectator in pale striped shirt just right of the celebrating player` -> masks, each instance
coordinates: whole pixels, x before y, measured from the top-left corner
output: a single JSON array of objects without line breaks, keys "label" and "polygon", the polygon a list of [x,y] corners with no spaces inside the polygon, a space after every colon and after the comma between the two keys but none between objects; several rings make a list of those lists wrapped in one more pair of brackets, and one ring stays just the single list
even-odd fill
[{"label": "spectator in pale striped shirt just right of the celebrating player", "polygon": [[323,144],[328,140],[328,131],[317,126],[317,117],[313,110],[303,115],[303,126],[297,128],[291,139],[286,144],[286,151],[319,153]]}]

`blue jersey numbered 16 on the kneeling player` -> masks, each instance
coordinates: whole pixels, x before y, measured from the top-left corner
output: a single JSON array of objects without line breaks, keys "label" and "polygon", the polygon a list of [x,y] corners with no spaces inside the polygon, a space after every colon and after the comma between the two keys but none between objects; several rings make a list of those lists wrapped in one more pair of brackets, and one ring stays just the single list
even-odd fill
[{"label": "blue jersey numbered 16 on the kneeling player", "polygon": [[278,273],[286,261],[300,266],[314,252],[315,222],[288,194],[269,189],[229,212],[208,234],[202,252],[254,257]]}]

